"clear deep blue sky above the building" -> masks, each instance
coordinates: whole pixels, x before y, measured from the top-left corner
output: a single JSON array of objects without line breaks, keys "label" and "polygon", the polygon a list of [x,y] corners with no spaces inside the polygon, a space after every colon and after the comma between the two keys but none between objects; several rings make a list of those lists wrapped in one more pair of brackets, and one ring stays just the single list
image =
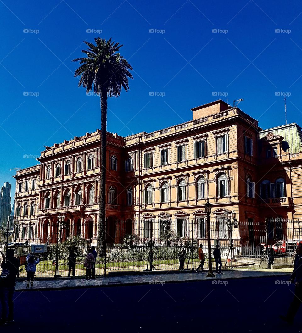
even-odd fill
[{"label": "clear deep blue sky above the building", "polygon": [[288,123],[302,125],[301,12],[300,1],[280,0],[0,0],[0,185],[14,191],[10,168],[37,163],[24,155],[100,128],[99,98],[78,88],[71,62],[99,36],[124,44],[134,68],[130,91],[108,101],[110,132],[182,123],[192,107],[218,98],[243,98],[240,108],[262,128],[278,126],[284,97],[276,92],[290,95]]}]

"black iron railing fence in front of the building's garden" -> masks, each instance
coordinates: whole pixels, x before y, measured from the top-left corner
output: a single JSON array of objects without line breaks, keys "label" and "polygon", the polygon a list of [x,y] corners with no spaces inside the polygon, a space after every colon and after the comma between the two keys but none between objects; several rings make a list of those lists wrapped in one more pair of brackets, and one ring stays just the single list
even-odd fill
[{"label": "black iron railing fence in front of the building's garden", "polygon": [[[180,252],[184,250],[184,268],[192,269],[199,265],[198,247],[203,245],[204,267],[208,266],[206,220],[149,219],[133,224],[132,230],[126,223],[115,224],[114,234],[107,237],[107,271],[178,269]],[[132,233],[131,233],[132,231]],[[255,222],[252,220],[227,223],[223,218],[210,221],[211,252],[219,245],[222,265],[225,268],[268,268],[270,260],[276,264],[291,264],[297,243],[301,242],[300,221],[286,219]],[[269,245],[272,245],[271,249]],[[24,268],[30,246],[14,246],[15,255],[20,258]],[[77,259],[76,275],[85,275],[85,257],[90,248],[87,240],[80,235],[68,238],[58,245],[59,275],[69,272],[68,256],[74,249]],[[4,251],[4,248],[2,248]],[[56,268],[56,245],[49,245],[47,253],[37,254],[37,276],[54,276]],[[213,266],[215,266],[214,259]],[[97,257],[96,274],[104,273],[105,259]],[[25,269],[20,276],[25,276]]]}]

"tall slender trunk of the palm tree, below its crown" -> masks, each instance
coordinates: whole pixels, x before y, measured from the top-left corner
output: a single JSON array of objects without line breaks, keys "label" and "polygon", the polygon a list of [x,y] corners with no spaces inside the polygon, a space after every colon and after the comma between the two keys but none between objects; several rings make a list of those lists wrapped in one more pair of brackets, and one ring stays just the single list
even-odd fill
[{"label": "tall slender trunk of the palm tree, below its crown", "polygon": [[101,257],[106,255],[106,133],[107,133],[107,90],[101,89],[101,163],[100,199],[97,249]]}]

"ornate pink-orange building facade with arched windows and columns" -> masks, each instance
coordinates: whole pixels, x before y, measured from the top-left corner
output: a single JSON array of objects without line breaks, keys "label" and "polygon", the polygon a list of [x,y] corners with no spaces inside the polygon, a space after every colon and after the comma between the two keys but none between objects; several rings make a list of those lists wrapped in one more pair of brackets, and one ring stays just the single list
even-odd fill
[{"label": "ornate pink-orange building facade with arched windows and columns", "polygon": [[[286,219],[302,217],[298,125],[287,125],[284,136],[279,128],[262,131],[258,121],[221,100],[191,110],[191,121],[166,129],[125,138],[107,134],[109,244],[121,243],[125,233],[158,238],[167,220],[180,237],[188,237],[192,225],[201,240],[207,198],[217,240],[228,237],[224,212],[234,210],[252,227],[266,218],[287,227]],[[63,216],[60,240],[81,234],[95,244],[100,130],[46,147],[37,160],[15,175],[16,238],[55,243]]]}]

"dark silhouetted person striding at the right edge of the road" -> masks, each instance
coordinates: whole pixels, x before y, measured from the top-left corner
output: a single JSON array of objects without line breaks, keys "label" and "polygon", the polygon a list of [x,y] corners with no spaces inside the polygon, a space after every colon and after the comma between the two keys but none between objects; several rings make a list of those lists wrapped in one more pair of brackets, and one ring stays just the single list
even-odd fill
[{"label": "dark silhouetted person striding at the right edge of the road", "polygon": [[292,324],[295,315],[302,303],[302,243],[297,245],[294,261],[294,270],[289,277],[291,283],[295,282],[294,298],[289,306],[286,316],[280,316],[280,319]]}]

